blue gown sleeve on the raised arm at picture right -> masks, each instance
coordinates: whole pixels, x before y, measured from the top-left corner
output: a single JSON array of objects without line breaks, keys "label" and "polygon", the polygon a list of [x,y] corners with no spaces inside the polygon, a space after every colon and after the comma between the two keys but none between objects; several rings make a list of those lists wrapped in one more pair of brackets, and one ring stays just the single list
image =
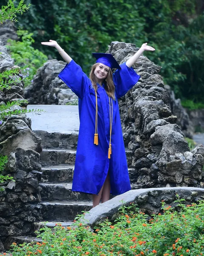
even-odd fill
[{"label": "blue gown sleeve on the raised arm at picture right", "polygon": [[115,93],[117,99],[124,96],[140,79],[140,76],[131,67],[129,68],[126,63],[120,65],[121,69],[113,73],[113,82],[115,85]]}]

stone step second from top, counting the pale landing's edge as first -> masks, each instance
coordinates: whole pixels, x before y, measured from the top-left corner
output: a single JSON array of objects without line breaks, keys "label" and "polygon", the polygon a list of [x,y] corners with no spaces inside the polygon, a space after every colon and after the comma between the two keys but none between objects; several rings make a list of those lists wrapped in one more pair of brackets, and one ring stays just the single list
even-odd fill
[{"label": "stone step second from top, counting the pale landing's edge as first", "polygon": [[40,153],[40,163],[42,166],[57,164],[74,164],[76,158],[76,150],[49,148],[43,149]]}]

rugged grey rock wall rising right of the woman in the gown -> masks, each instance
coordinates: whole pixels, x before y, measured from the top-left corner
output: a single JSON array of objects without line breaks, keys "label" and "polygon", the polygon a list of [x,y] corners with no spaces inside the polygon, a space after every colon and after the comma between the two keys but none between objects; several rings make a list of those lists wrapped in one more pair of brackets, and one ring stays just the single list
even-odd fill
[{"label": "rugged grey rock wall rising right of the woman in the gown", "polygon": [[[137,50],[134,44],[112,42],[108,53],[121,64]],[[204,146],[198,145],[190,152],[184,134],[176,124],[177,117],[168,106],[169,94],[158,75],[161,67],[141,55],[134,69],[141,79],[119,99],[119,107],[135,189],[204,187]]]}]

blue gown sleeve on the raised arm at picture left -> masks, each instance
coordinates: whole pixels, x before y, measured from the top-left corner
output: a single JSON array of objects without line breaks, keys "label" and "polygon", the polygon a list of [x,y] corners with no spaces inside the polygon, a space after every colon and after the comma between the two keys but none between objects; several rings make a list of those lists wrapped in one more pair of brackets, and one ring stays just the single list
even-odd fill
[{"label": "blue gown sleeve on the raised arm at picture left", "polygon": [[82,71],[81,67],[70,61],[63,68],[58,77],[81,99],[88,93],[89,78]]}]

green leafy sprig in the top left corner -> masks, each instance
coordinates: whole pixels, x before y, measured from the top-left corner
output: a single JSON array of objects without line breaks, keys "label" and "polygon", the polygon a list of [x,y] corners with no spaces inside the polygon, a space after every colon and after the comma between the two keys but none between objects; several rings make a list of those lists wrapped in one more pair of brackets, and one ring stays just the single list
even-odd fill
[{"label": "green leafy sprig in the top left corner", "polygon": [[24,0],[20,0],[17,6],[14,5],[16,0],[9,0],[6,6],[1,6],[0,10],[0,23],[5,20],[11,20],[17,22],[16,14],[26,12],[29,9],[30,4],[26,5]]}]

